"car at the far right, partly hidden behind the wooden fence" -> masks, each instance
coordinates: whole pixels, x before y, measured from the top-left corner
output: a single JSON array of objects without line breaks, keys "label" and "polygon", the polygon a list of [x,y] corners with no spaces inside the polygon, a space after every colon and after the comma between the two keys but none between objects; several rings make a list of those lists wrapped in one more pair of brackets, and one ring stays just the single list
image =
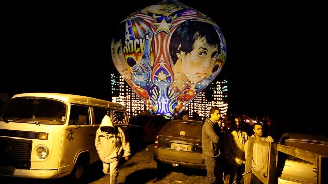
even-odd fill
[{"label": "car at the far right, partly hidden behind the wooden fence", "polygon": [[[278,183],[328,183],[327,162],[328,162],[328,137],[285,133],[282,135],[279,144],[299,148],[323,155],[321,166],[312,164],[300,158],[278,153]],[[319,174],[321,172],[321,174]],[[321,175],[321,178],[319,176]]]}]

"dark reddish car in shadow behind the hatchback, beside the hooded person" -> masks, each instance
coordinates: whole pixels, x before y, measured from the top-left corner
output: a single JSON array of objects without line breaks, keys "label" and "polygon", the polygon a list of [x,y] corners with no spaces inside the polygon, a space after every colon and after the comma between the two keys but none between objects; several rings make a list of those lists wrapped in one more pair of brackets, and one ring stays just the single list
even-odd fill
[{"label": "dark reddish car in shadow behind the hatchback, beside the hooded person", "polygon": [[169,120],[159,114],[139,114],[129,119],[128,136],[130,142],[155,142],[159,131]]}]

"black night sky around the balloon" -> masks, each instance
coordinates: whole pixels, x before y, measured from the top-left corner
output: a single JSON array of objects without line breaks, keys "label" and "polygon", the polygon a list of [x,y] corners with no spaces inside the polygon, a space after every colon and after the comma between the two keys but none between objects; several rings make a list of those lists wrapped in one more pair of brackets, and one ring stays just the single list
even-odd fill
[{"label": "black night sky around the balloon", "polygon": [[[110,100],[110,74],[116,72],[112,35],[130,13],[158,2],[10,2],[3,7],[0,93],[45,91]],[[233,113],[266,113],[293,126],[301,121],[301,126],[327,127],[322,5],[180,2],[208,15],[223,32],[227,60],[218,80],[228,80]]]}]

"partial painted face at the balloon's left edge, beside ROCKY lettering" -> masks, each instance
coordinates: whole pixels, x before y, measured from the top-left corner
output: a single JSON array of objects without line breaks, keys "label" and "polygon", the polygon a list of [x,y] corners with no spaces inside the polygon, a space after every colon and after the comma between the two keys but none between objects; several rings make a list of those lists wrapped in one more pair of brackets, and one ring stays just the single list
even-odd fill
[{"label": "partial painted face at the balloon's left edge, beside ROCKY lettering", "polygon": [[114,42],[114,40],[112,40],[111,48],[112,48],[112,52],[111,52],[112,59],[119,74],[121,74],[125,79],[131,80],[131,72],[124,58],[121,41]]}]

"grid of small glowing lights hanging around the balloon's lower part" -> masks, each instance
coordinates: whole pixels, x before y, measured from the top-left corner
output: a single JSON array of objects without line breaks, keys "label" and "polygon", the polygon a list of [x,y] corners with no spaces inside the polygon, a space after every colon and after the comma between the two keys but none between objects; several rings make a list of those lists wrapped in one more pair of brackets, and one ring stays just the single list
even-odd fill
[{"label": "grid of small glowing lights hanging around the balloon's lower part", "polygon": [[[198,113],[199,117],[203,120],[209,116],[209,110],[213,106],[220,108],[221,115],[226,115],[228,110],[228,103],[226,98],[228,97],[228,85],[227,81],[217,81],[210,84],[212,90],[211,99],[208,102],[206,99],[206,93],[202,91],[199,93],[184,109],[189,110],[189,117],[192,117],[192,113]],[[148,111],[148,107],[144,102],[134,93],[133,89],[128,86],[122,76],[115,76],[111,74],[112,85],[112,101],[124,106],[129,114],[129,117],[136,116],[142,111]],[[160,103],[167,103],[165,102]],[[150,104],[149,104],[150,105]]]}]

